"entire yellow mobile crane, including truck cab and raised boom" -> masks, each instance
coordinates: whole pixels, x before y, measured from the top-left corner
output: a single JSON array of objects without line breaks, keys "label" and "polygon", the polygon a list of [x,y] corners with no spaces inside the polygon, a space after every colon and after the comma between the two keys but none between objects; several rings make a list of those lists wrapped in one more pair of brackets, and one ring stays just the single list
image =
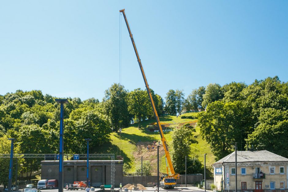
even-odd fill
[{"label": "entire yellow mobile crane, including truck cab and raised boom", "polygon": [[[157,111],[156,111],[156,107],[155,107],[155,104],[154,104],[154,101],[153,101],[153,98],[152,98],[152,95],[151,95],[151,92],[150,92],[150,88],[149,88],[149,85],[148,85],[148,82],[147,82],[147,79],[146,79],[146,76],[145,76],[145,73],[144,73],[144,69],[143,69],[143,66],[142,66],[142,63],[141,63],[141,60],[140,60],[136,45],[135,45],[135,41],[133,39],[133,35],[131,33],[131,30],[130,30],[130,27],[129,27],[129,24],[128,24],[128,21],[127,21],[127,17],[126,17],[126,14],[125,14],[125,9],[122,9],[122,10],[119,10],[119,11],[123,14],[123,17],[125,19],[125,23],[127,25],[129,36],[130,36],[132,44],[133,44],[133,48],[134,48],[134,51],[135,51],[135,54],[136,54],[136,57],[137,57],[137,61],[138,61],[138,64],[139,64],[139,67],[140,67],[140,70],[141,70],[141,73],[142,73],[142,77],[143,77],[143,80],[144,80],[144,83],[145,83],[145,86],[146,86],[146,89],[147,89],[147,92],[148,92],[148,96],[149,96],[149,99],[150,99],[150,102],[151,102],[151,105],[152,105],[153,113],[155,115],[156,122],[157,122],[157,125],[158,125],[158,128],[159,128],[161,141],[163,143],[163,147],[164,147],[164,150],[165,150],[167,175],[161,177],[160,185],[161,185],[162,188],[174,188],[174,186],[176,186],[176,179],[179,179],[179,174],[175,173],[173,165],[172,165],[171,157],[170,157],[169,150],[168,150],[167,141],[166,141],[166,139],[164,137],[163,130],[162,130],[161,123],[160,123],[160,119],[158,117],[158,114],[157,114]],[[169,164],[171,175],[169,175],[167,162]]]}]

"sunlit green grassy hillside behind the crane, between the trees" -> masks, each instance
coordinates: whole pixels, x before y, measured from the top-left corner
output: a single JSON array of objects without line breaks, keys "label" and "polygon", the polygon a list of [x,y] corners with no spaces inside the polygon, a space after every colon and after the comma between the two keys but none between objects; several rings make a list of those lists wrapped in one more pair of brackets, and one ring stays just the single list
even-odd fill
[{"label": "sunlit green grassy hillside behind the crane, between the trees", "polygon": [[[195,113],[191,113],[196,115]],[[170,124],[169,128],[176,129],[181,123],[192,122],[196,121],[196,119],[181,119],[180,117],[176,116],[165,116],[160,117],[161,123]],[[141,129],[138,129],[138,124],[134,124],[130,127],[124,128],[122,133],[111,133],[111,141],[107,144],[103,145],[102,147],[93,150],[96,153],[115,153],[115,155],[121,155],[124,157],[124,163],[127,163],[131,166],[130,172],[135,171],[135,167],[137,164],[141,163],[141,160],[137,158],[137,151],[139,151],[139,145],[142,144],[142,156],[145,156],[145,150],[148,142],[152,143],[153,141],[159,141],[161,139],[160,134],[158,132],[151,132],[147,128],[148,125],[155,123],[155,120],[146,120],[142,122]],[[207,153],[206,164],[210,166],[214,162],[214,156],[211,153],[210,145],[207,144],[206,141],[202,140],[200,135],[200,129],[196,126],[196,133],[195,137],[198,141],[198,144],[191,145],[191,156],[199,156],[199,160],[204,162],[204,153]],[[172,134],[171,132],[164,132],[165,138],[169,143],[172,142]],[[138,144],[138,145],[137,145]],[[145,150],[144,150],[145,145]],[[151,144],[150,144],[151,145]],[[119,147],[119,148],[118,148]],[[163,148],[163,147],[161,147]],[[171,147],[172,148],[172,147]],[[170,148],[170,149],[171,149]],[[165,163],[165,155],[163,149],[161,149],[162,157],[160,162],[160,171],[166,172],[166,163]],[[147,151],[148,152],[148,151]],[[141,155],[140,155],[141,156]],[[143,157],[144,158],[144,157]],[[149,160],[153,166],[153,168],[157,168],[157,150],[153,150],[151,154],[149,153],[149,157],[147,154],[145,156],[146,160]]]}]

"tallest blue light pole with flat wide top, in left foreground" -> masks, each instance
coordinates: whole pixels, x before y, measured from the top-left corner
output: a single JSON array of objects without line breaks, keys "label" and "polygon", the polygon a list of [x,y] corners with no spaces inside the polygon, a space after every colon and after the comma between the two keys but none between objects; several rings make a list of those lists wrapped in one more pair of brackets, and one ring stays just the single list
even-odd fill
[{"label": "tallest blue light pole with flat wide top, in left foreground", "polygon": [[60,136],[59,136],[59,178],[58,178],[58,192],[63,192],[64,172],[63,172],[63,123],[64,123],[64,103],[68,103],[66,99],[55,99],[60,104]]}]

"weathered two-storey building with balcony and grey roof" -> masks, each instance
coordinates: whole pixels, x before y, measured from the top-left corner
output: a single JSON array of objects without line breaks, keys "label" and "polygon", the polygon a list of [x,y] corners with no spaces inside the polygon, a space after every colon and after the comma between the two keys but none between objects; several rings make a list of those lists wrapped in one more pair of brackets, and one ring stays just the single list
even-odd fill
[{"label": "weathered two-storey building with balcony and grey roof", "polygon": [[[235,192],[235,152],[213,165],[217,190]],[[288,191],[288,159],[269,151],[237,151],[237,191]]]}]

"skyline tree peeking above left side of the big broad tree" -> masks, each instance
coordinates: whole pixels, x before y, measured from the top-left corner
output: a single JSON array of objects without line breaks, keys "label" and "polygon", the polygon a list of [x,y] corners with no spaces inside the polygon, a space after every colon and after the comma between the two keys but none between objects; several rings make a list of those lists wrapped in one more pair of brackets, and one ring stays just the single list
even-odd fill
[{"label": "skyline tree peeking above left side of the big broad tree", "polygon": [[223,98],[223,93],[221,86],[216,83],[210,83],[207,85],[205,94],[203,95],[202,107],[207,107],[208,104],[221,100]]}]

